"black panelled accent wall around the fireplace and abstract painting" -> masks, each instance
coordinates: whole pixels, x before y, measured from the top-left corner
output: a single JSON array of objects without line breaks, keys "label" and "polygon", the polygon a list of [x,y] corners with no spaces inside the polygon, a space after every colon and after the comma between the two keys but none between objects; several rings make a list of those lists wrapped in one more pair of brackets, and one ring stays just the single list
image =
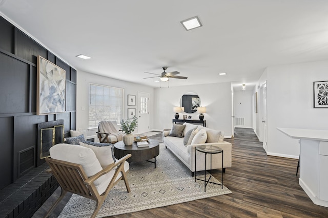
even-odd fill
[{"label": "black panelled accent wall around the fireplace and abstract painting", "polygon": [[[65,113],[36,115],[38,55],[66,70]],[[76,129],[76,70],[0,16],[0,189],[30,170],[19,172],[18,158],[31,147],[36,155],[37,124],[58,119],[66,136]]]}]

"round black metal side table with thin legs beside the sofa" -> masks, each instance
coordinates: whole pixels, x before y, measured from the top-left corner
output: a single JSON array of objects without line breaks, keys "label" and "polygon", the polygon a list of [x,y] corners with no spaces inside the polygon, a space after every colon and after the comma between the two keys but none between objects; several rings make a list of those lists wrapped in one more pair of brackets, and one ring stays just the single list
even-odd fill
[{"label": "round black metal side table with thin legs beside the sofa", "polygon": [[[205,168],[204,168],[204,179],[203,180],[196,178],[196,161],[197,161],[196,154],[197,154],[197,151],[205,154]],[[219,153],[222,153],[221,184],[210,181],[212,178],[212,154],[219,154]],[[206,180],[206,156],[207,156],[207,154],[211,155],[210,177],[208,180]],[[208,183],[221,185],[221,187],[223,189],[223,150],[221,148],[216,147],[216,146],[206,146],[206,145],[196,147],[196,151],[195,151],[195,182],[196,182],[196,180],[200,180],[200,181],[204,182],[204,191],[205,192],[206,192],[206,186]]]}]

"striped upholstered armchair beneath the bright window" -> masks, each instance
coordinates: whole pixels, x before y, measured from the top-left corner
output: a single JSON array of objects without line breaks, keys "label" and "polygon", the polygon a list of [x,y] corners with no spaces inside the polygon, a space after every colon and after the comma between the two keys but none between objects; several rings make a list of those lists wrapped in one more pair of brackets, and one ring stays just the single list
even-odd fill
[{"label": "striped upholstered armchair beneath the bright window", "polygon": [[116,143],[122,140],[123,135],[116,120],[100,121],[98,124],[97,137],[101,143]]}]

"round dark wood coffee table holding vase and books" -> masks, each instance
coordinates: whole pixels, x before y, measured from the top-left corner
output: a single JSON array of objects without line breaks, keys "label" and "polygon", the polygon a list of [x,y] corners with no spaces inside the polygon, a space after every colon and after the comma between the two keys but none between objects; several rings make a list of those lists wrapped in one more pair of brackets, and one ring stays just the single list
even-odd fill
[{"label": "round dark wood coffee table holding vase and books", "polygon": [[[129,162],[148,161],[155,164],[156,156],[159,154],[159,142],[156,139],[149,139],[149,147],[139,148],[136,142],[132,146],[126,146],[123,141],[118,141],[114,144],[114,155],[116,159],[122,158],[127,154],[132,156],[128,159]],[[149,161],[154,158],[154,162]]]}]

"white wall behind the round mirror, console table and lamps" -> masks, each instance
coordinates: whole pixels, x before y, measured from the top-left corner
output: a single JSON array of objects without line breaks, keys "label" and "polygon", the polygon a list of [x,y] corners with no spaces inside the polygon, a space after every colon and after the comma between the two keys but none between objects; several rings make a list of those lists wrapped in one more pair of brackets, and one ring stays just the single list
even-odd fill
[{"label": "white wall behind the round mirror, console table and lamps", "polygon": [[[204,119],[207,127],[224,131],[225,137],[231,137],[231,83],[213,83],[203,85],[162,87],[154,89],[154,129],[172,127],[173,107],[180,106],[180,98],[187,92],[198,94],[201,106],[206,107]],[[199,119],[198,113],[180,113]]]}]

